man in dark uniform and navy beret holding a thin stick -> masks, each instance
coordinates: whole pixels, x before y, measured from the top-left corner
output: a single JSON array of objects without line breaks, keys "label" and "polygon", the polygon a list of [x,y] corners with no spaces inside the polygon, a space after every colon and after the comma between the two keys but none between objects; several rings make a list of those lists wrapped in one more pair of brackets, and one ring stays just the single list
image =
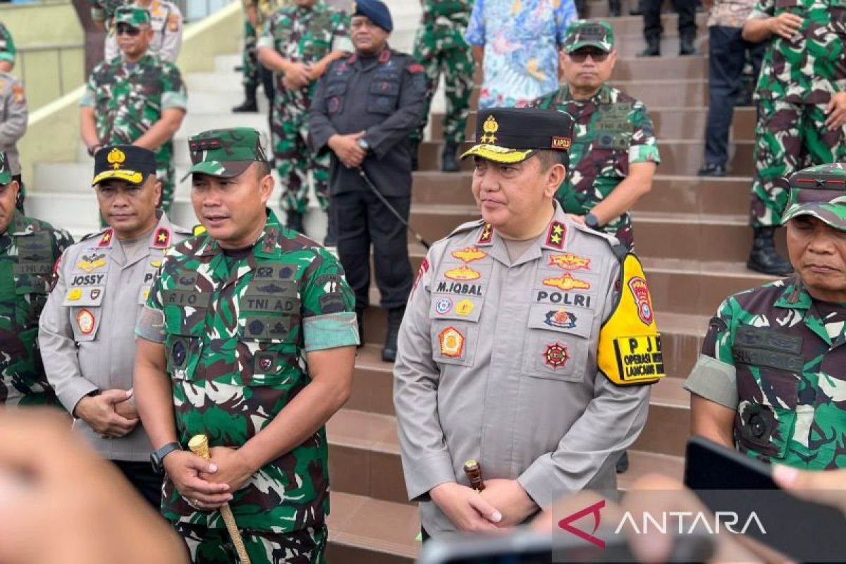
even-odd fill
[{"label": "man in dark uniform and navy beret holding a thin stick", "polygon": [[413,57],[388,47],[393,21],[384,3],[361,0],[355,7],[351,25],[355,52],[333,62],[321,77],[309,110],[310,141],[315,151],[332,151],[330,221],[338,225],[338,257],[355,293],[360,328],[368,304],[373,244],[376,285],[387,309],[382,359],[393,362],[414,282],[408,237],[404,225],[360,177],[359,168],[408,220],[409,134],[423,115],[426,73]]}]

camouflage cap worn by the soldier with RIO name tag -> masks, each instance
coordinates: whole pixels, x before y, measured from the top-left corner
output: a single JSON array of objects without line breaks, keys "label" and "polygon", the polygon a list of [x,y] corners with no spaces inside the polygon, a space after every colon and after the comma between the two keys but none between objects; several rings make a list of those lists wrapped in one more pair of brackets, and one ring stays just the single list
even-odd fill
[{"label": "camouflage cap worn by the soldier with RIO name tag", "polygon": [[267,162],[261,134],[252,128],[204,131],[188,139],[188,150],[193,166],[184,178],[195,172],[233,178],[253,162]]}]

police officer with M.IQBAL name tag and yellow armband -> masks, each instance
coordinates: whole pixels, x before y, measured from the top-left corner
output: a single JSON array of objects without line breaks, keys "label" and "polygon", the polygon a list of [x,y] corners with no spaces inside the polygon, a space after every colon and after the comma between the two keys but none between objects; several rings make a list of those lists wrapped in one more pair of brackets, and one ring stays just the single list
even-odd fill
[{"label": "police officer with M.IQBAL name tag and yellow armband", "polygon": [[[480,112],[463,158],[475,159],[482,218],[420,266],[394,407],[424,536],[511,527],[569,491],[613,493],[645,385],[663,375],[640,262],[554,200],[571,129],[563,112]],[[464,475],[471,459],[481,493]]]}]

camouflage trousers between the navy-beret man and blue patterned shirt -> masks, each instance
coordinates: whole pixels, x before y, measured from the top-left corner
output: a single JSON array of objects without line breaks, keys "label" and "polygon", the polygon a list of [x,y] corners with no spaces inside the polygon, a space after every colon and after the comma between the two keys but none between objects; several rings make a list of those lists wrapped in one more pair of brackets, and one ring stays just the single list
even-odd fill
[{"label": "camouflage trousers between the navy-beret man and blue patterned shirt", "polygon": [[413,140],[423,139],[429,121],[431,99],[443,74],[447,95],[447,113],[443,117],[443,139],[458,145],[466,139],[467,118],[470,117],[470,94],[473,92],[473,56],[470,47],[461,49],[437,48],[434,34],[420,33],[415,41],[415,58],[426,69],[426,106],[423,119]]}]

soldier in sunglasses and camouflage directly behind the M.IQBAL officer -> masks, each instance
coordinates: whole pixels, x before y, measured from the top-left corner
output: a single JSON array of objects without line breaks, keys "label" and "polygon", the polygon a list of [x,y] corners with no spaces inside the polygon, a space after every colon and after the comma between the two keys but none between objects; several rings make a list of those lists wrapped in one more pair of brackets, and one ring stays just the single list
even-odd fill
[{"label": "soldier in sunglasses and camouflage directly behind the M.IQBAL officer", "polygon": [[570,169],[556,198],[576,221],[611,233],[633,249],[630,210],[651,189],[661,162],[652,120],[643,102],[605,84],[617,59],[611,25],[575,21],[563,52],[567,84],[536,101],[538,107],[574,118]]}]

